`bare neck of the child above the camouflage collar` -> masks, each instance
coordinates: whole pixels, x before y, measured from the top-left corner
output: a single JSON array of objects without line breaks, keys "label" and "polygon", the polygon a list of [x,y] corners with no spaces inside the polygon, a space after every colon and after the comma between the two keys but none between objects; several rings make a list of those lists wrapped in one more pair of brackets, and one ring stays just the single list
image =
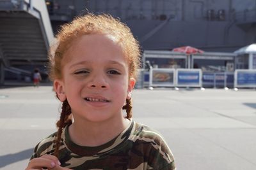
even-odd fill
[{"label": "bare neck of the child above the camouflage collar", "polygon": [[75,120],[68,132],[71,140],[77,145],[100,146],[118,136],[129,125],[130,120],[123,117],[120,119],[99,123]]}]

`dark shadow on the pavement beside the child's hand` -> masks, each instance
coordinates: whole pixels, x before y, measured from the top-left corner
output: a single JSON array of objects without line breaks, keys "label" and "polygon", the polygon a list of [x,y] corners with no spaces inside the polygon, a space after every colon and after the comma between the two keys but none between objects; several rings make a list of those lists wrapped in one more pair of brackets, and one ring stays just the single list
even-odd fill
[{"label": "dark shadow on the pavement beside the child's hand", "polygon": [[8,155],[1,155],[0,156],[0,167],[7,166],[8,164],[12,164],[14,162],[18,162],[20,160],[29,159],[33,153],[33,148],[28,150],[23,150],[18,153],[8,154]]}]

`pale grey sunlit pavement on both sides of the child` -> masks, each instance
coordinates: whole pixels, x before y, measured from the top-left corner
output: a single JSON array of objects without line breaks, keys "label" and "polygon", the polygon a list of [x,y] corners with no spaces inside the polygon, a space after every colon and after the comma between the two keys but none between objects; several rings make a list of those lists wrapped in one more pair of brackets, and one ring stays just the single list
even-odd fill
[{"label": "pale grey sunlit pavement on both sides of the child", "polygon": [[[160,131],[179,170],[256,169],[255,90],[135,90],[134,120]],[[51,87],[0,89],[0,170],[24,169],[55,131]]]}]

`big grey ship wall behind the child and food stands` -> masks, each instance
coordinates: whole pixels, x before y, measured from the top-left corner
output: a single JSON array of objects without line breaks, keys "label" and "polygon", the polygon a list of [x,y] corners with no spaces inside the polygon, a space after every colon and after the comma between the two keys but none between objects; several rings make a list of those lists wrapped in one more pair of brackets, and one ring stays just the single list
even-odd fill
[{"label": "big grey ship wall behind the child and food stands", "polygon": [[255,0],[47,0],[55,32],[60,24],[88,11],[120,18],[143,50],[195,46],[234,52],[256,42]]}]

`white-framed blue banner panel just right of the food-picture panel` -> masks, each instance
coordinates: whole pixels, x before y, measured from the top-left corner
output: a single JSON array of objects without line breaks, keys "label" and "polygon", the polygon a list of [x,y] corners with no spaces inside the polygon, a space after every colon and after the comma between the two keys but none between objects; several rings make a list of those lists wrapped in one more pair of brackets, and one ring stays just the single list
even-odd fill
[{"label": "white-framed blue banner panel just right of the food-picture panel", "polygon": [[177,86],[201,87],[201,70],[177,69]]}]

